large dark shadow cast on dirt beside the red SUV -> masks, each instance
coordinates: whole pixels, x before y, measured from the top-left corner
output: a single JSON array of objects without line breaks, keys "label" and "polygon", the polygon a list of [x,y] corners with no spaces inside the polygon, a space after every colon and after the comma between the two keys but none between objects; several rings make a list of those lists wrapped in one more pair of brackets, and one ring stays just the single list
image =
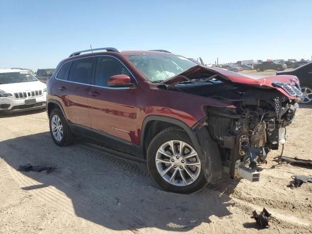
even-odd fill
[{"label": "large dark shadow cast on dirt beside the red SUV", "polygon": [[39,199],[108,229],[185,232],[210,223],[212,216],[232,214],[229,194],[237,180],[227,186],[225,179],[221,186],[209,185],[191,195],[164,192],[151,179],[146,165],[78,143],[58,147],[49,132],[1,141],[0,149],[0,156],[13,170],[27,163],[57,165],[51,173],[12,174],[22,189]]}]

